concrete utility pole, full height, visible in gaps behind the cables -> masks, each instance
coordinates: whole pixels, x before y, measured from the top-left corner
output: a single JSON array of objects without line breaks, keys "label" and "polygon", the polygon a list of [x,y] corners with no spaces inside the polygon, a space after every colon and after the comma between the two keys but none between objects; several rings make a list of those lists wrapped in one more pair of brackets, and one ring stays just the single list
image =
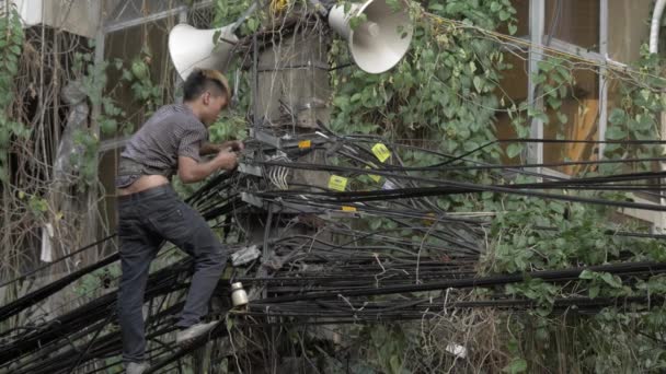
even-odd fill
[{"label": "concrete utility pole, full height, visible in gaps behind the cables", "polygon": [[[298,7],[298,5],[295,5]],[[272,7],[273,8],[273,7]],[[330,33],[325,20],[322,20],[312,7],[277,10],[267,24],[267,28],[277,32],[269,38],[254,39],[253,63],[253,114],[254,124],[251,137],[262,139],[296,139],[314,136],[319,130],[318,121],[329,124],[331,95],[328,55]],[[261,47],[260,47],[261,46]],[[279,150],[276,152],[278,155]],[[263,154],[253,156],[261,160]],[[312,151],[297,162],[317,163],[323,157],[322,151]],[[290,172],[288,184],[326,187],[329,174],[313,171]],[[287,186],[283,186],[287,187]],[[287,187],[289,188],[289,187]],[[280,207],[268,206],[267,215],[279,211]],[[265,226],[259,220],[249,219],[250,242],[261,244],[262,262],[269,262],[272,252],[268,238],[285,235],[283,227],[272,230],[271,218]],[[263,218],[262,218],[263,219]],[[253,223],[254,222],[254,223]],[[292,227],[301,235],[313,235],[311,229]],[[257,277],[267,276],[267,267],[262,266]],[[264,296],[266,290],[263,291]],[[277,335],[272,331],[273,336]],[[268,354],[266,372],[277,369],[278,372],[299,372],[305,362],[297,358],[279,358],[276,352]],[[282,362],[280,362],[282,361]]]}]

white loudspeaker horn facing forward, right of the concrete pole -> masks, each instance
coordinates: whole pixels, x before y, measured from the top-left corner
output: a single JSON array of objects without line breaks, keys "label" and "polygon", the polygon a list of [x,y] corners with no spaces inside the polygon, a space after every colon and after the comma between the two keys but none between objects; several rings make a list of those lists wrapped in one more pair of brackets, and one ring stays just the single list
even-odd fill
[{"label": "white loudspeaker horn facing forward, right of the concrete pole", "polygon": [[[352,30],[349,20],[360,14],[366,15],[366,21]],[[352,4],[347,14],[344,5],[336,5],[329,13],[329,24],[347,39],[354,61],[369,73],[382,73],[394,67],[412,42],[413,28],[406,9],[395,11],[386,0]]]}]

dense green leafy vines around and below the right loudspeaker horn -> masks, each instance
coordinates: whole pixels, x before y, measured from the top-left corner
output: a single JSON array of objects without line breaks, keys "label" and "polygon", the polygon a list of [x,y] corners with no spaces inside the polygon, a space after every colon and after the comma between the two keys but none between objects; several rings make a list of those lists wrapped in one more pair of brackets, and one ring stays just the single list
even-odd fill
[{"label": "dense green leafy vines around and below the right loudspeaker horn", "polygon": [[[433,147],[447,154],[471,151],[495,139],[500,102],[494,91],[505,68],[503,54],[494,42],[468,28],[438,23],[425,12],[495,30],[513,21],[516,11],[508,0],[423,4],[412,3],[414,38],[394,69],[375,75],[349,68],[333,74],[333,130],[433,139]],[[344,42],[334,43],[333,60],[348,59],[347,49]],[[497,161],[500,148],[489,147],[474,157]]]}]

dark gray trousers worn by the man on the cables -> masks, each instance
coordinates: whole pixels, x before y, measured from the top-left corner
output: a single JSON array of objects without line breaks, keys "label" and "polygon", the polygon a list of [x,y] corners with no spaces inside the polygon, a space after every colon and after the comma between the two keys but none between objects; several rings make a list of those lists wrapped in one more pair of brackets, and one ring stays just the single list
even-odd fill
[{"label": "dark gray trousers worn by the man on the cables", "polygon": [[118,319],[123,361],[143,361],[143,292],[150,262],[163,241],[194,258],[194,276],[179,327],[190,327],[208,313],[208,301],[225,269],[227,253],[202,215],[181,201],[171,186],[118,197],[118,236],[123,276]]}]

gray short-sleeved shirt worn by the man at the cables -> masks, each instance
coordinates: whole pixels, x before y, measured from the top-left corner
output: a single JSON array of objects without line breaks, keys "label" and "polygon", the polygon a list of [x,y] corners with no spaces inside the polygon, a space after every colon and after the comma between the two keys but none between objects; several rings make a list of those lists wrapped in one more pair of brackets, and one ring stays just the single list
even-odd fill
[{"label": "gray short-sleeved shirt worn by the man at the cables", "polygon": [[177,170],[179,156],[199,161],[199,149],[206,139],[208,129],[187,106],[162,106],[120,153],[116,187],[127,187],[141,175],[170,178]]}]

